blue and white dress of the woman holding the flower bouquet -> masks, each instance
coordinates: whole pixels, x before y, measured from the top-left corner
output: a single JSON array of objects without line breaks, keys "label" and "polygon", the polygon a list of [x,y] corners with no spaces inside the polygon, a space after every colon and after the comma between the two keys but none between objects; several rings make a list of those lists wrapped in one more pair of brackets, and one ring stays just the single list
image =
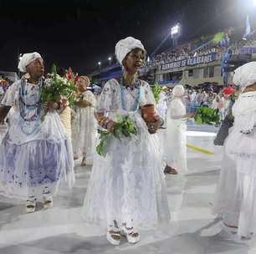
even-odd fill
[{"label": "blue and white dress of the woman holding the flower bouquet", "polygon": [[40,87],[26,79],[14,83],[2,104],[13,106],[10,126],[0,145],[0,195],[21,200],[54,196],[62,180],[74,184],[72,145],[59,115],[41,121]]}]

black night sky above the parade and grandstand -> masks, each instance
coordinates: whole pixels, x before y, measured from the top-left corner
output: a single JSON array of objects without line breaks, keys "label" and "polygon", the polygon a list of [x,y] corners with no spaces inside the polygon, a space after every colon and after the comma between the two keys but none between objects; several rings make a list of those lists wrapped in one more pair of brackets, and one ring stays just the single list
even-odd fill
[{"label": "black night sky above the parade and grandstand", "polygon": [[[18,53],[38,51],[47,69],[55,63],[89,74],[126,36],[141,39],[151,53],[176,22],[182,23],[181,43],[244,26],[246,13],[253,12],[247,1],[0,0],[0,70],[17,71]],[[171,46],[169,38],[161,49]]]}]

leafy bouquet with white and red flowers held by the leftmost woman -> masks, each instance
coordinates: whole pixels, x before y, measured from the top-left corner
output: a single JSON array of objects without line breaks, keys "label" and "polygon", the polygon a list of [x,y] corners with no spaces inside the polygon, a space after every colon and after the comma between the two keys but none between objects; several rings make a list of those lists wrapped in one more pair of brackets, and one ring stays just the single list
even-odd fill
[{"label": "leafy bouquet with white and red flowers held by the leftmost woman", "polygon": [[[52,73],[48,74],[44,86],[40,89],[40,99],[45,105],[67,101],[69,105],[74,104],[74,92],[76,88],[69,79],[64,79],[57,74],[56,65],[53,65]],[[44,109],[44,115],[48,110]]]}]

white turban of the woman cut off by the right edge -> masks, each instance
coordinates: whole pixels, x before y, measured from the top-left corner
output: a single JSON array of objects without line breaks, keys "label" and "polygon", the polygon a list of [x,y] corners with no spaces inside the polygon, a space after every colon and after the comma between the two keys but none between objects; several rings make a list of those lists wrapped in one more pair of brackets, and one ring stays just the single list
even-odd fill
[{"label": "white turban of the woman cut off by the right edge", "polygon": [[243,66],[235,69],[233,84],[245,88],[254,83],[256,83],[256,62],[243,64]]}]

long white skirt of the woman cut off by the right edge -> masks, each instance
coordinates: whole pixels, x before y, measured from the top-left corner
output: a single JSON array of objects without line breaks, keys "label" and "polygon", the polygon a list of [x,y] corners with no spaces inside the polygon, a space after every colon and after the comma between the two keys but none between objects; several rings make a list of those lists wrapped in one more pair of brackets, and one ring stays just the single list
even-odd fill
[{"label": "long white skirt of the woman cut off by the right edge", "polygon": [[253,136],[233,130],[224,145],[221,175],[213,212],[238,235],[250,236],[256,223],[256,147]]}]

